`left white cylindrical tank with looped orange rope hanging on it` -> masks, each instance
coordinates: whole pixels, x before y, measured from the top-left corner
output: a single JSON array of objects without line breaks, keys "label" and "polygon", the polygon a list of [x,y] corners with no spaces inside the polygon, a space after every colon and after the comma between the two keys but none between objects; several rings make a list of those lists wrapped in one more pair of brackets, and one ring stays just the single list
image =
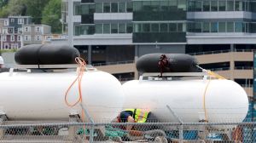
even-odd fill
[{"label": "left white cylindrical tank with looped orange rope hanging on it", "polygon": [[[0,112],[9,119],[68,119],[81,106],[70,107],[65,93],[77,77],[76,72],[9,72],[0,74]],[[119,81],[107,72],[84,72],[81,82],[82,105],[96,122],[109,122],[118,115],[124,103]],[[79,86],[75,83],[67,101],[79,99]],[[84,117],[85,119],[87,117]]]}]

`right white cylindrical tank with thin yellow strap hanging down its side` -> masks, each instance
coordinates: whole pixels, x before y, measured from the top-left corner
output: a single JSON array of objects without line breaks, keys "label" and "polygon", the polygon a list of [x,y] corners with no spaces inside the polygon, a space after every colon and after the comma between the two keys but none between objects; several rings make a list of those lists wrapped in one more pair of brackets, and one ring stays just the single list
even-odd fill
[{"label": "right white cylindrical tank with thin yellow strap hanging down its side", "polygon": [[122,85],[124,107],[148,109],[163,122],[178,122],[166,106],[184,123],[198,123],[206,117],[209,123],[242,122],[248,110],[244,89],[230,80],[211,80],[204,96],[208,82],[133,80]]}]

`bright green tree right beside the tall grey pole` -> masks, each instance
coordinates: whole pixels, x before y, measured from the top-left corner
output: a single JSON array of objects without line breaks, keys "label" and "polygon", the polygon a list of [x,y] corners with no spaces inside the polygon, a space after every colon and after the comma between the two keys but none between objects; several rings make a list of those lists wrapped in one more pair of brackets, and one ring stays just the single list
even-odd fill
[{"label": "bright green tree right beside the tall grey pole", "polygon": [[44,7],[42,24],[52,27],[53,33],[61,33],[61,0],[50,0]]}]

